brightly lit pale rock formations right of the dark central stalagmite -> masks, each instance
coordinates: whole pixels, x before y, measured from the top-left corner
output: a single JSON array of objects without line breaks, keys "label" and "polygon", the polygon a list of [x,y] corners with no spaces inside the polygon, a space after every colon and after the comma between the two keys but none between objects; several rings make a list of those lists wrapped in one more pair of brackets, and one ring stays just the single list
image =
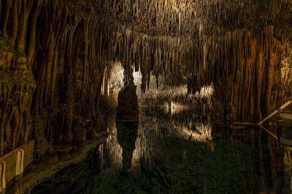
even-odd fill
[{"label": "brightly lit pale rock formations right of the dark central stalagmite", "polygon": [[[139,106],[162,106],[168,112],[168,107],[171,107],[171,113],[178,113],[183,109],[191,108],[198,104],[206,103],[210,105],[211,97],[214,93],[214,87],[203,85],[200,91],[196,94],[188,94],[186,80],[181,84],[170,85],[164,77],[157,80],[154,75],[150,75],[149,89],[146,89],[145,94],[142,93],[139,87],[142,84],[142,75],[140,72],[134,72],[134,83],[137,87],[137,97]],[[170,104],[171,103],[171,104]]]}]

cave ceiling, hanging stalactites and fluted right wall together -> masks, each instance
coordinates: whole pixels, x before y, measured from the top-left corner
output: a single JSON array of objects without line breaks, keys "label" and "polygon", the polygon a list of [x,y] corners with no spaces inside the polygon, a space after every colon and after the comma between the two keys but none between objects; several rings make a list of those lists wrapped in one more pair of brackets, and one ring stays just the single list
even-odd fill
[{"label": "cave ceiling, hanging stalactites and fluted right wall together", "polygon": [[[151,73],[165,79],[177,72],[184,75],[189,93],[213,82],[214,113],[234,121],[259,121],[287,100],[283,85],[289,81],[281,80],[280,61],[292,38],[292,1],[97,3],[109,16],[131,24],[126,38],[132,47],[123,59],[134,64],[136,71],[143,64],[143,92]],[[146,42],[139,38],[141,34]]]}]

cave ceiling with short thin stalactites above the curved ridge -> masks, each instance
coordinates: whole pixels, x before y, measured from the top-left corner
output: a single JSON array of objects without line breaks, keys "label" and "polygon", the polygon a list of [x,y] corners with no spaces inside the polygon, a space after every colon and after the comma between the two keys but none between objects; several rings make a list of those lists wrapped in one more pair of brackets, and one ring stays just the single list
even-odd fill
[{"label": "cave ceiling with short thin stalactites above the curved ridge", "polygon": [[275,26],[291,38],[291,0],[96,0],[98,7],[133,31],[154,36],[222,35],[235,29]]}]

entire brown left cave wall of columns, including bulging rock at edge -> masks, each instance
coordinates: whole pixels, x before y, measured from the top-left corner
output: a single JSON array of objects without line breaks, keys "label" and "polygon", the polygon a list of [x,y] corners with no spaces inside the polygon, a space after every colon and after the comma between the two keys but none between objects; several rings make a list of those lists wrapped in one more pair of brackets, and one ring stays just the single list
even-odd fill
[{"label": "entire brown left cave wall of columns, including bulging rock at edge", "polygon": [[47,140],[73,142],[76,116],[86,124],[106,112],[103,30],[92,1],[0,2],[0,156],[29,138],[41,156]]}]

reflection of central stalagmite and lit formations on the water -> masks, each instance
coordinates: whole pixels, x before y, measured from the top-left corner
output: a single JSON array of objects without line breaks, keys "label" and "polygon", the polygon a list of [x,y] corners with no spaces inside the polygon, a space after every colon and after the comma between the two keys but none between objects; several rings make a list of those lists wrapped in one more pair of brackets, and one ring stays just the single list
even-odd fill
[{"label": "reflection of central stalagmite and lit formations on the water", "polygon": [[170,137],[201,142],[214,150],[209,119],[201,120],[195,114],[185,114],[181,118],[182,115],[156,111],[140,113],[140,122],[119,123],[111,118],[105,149],[109,151],[112,170],[139,171],[141,156],[151,162],[164,151],[164,142]]}]

